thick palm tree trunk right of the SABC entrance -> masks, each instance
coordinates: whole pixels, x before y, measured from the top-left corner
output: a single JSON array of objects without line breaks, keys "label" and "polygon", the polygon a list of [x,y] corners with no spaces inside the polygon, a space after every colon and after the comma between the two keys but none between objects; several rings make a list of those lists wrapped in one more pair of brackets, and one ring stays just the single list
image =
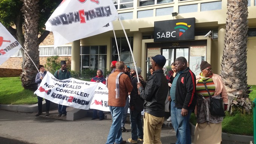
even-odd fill
[{"label": "thick palm tree trunk right of the SABC entrance", "polygon": [[227,0],[226,34],[221,63],[221,76],[229,96],[229,112],[233,105],[243,106],[250,113],[251,92],[247,84],[248,1]]}]

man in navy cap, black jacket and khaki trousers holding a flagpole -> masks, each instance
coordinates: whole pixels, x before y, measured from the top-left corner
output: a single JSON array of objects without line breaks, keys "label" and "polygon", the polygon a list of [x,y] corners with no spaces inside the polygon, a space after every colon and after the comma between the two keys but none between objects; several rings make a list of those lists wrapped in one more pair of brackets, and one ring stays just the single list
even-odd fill
[{"label": "man in navy cap, black jacket and khaki trousers holding a flagpole", "polygon": [[149,76],[145,90],[137,83],[140,97],[144,103],[144,144],[161,144],[161,130],[165,118],[165,100],[168,94],[168,82],[163,74],[166,59],[162,55],[152,57],[153,74]]}]

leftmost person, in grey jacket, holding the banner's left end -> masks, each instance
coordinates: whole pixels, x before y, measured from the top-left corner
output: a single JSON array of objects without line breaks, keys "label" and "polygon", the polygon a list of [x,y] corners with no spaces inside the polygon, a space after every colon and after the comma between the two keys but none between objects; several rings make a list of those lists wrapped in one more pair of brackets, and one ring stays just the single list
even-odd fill
[{"label": "leftmost person, in grey jacket, holding the banner's left end", "polygon": [[[35,77],[35,83],[37,83],[37,87],[39,87],[40,83],[42,82],[42,79],[46,75],[47,71],[44,69],[43,65],[39,65],[38,69],[40,70],[39,73],[37,73],[37,76]],[[50,100],[45,99],[46,102],[46,114],[45,116],[49,115],[50,110]],[[37,96],[37,105],[38,105],[38,112],[35,116],[39,116],[42,114],[42,106],[43,106],[43,97]]]}]

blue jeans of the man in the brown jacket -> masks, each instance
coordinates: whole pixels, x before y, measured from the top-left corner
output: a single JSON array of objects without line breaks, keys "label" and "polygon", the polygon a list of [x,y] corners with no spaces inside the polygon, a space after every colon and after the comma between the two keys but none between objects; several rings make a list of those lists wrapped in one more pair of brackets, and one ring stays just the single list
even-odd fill
[{"label": "blue jeans of the man in the brown jacket", "polygon": [[120,144],[123,141],[121,130],[123,107],[109,106],[109,109],[113,122],[108,133],[106,144],[114,144],[114,142]]}]

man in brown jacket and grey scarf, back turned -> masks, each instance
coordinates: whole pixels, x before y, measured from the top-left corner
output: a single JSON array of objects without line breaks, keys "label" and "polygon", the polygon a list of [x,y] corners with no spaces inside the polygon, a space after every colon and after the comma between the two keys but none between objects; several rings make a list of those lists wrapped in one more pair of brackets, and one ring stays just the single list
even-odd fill
[{"label": "man in brown jacket and grey scarf, back turned", "polygon": [[112,125],[108,133],[106,144],[125,144],[122,138],[121,121],[123,107],[126,102],[126,94],[132,91],[131,80],[124,74],[125,64],[122,61],[116,62],[116,70],[107,78],[108,106],[112,116]]}]

